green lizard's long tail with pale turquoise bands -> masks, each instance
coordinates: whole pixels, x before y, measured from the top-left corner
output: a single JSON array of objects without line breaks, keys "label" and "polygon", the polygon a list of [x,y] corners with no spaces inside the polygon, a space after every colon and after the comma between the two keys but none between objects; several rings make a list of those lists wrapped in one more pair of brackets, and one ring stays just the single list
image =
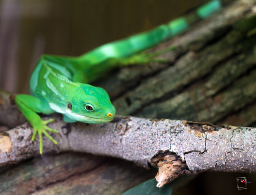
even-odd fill
[{"label": "green lizard's long tail with pale turquoise bands", "polygon": [[151,31],[139,33],[112,43],[104,44],[80,56],[77,60],[93,66],[111,58],[126,58],[157,45],[189,28],[201,19],[208,18],[222,8],[221,0],[212,0],[200,6],[196,12],[172,20]]}]

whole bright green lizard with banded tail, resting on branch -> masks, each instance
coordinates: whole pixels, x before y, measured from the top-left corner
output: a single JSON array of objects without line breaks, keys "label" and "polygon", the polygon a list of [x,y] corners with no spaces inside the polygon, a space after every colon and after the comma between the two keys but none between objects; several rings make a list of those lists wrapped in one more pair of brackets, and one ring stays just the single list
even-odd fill
[{"label": "whole bright green lizard with banded tail, resting on branch", "polygon": [[[139,54],[159,42],[188,29],[200,18],[207,18],[221,9],[220,0],[212,0],[199,7],[196,13],[177,18],[167,25],[140,33],[127,39],[102,45],[80,57],[42,55],[29,80],[31,95],[19,94],[15,102],[33,127],[31,140],[39,135],[39,151],[43,153],[42,133],[58,133],[46,124],[54,119],[42,120],[37,113],[58,112],[66,122],[105,123],[115,116],[108,93],[89,84],[113,67],[154,61],[154,55]],[[190,18],[190,19],[188,19]]]}]

